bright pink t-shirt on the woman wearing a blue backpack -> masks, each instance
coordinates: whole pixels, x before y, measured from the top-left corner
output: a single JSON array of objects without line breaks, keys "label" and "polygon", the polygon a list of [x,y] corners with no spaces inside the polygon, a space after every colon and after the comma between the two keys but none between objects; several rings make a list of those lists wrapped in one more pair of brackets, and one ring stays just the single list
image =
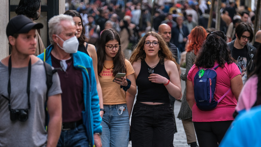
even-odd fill
[{"label": "bright pink t-shirt on the woman wearing a blue backpack", "polygon": [[[187,79],[192,81],[194,86],[194,77],[198,72],[198,67],[195,64],[189,70]],[[241,74],[239,68],[235,63],[227,64],[225,66],[216,68],[216,91],[214,99],[217,101],[222,97],[231,87],[230,80]],[[188,89],[187,89],[188,90]],[[232,90],[217,104],[216,108],[210,111],[200,110],[196,102],[192,107],[192,121],[196,122],[211,122],[211,121],[231,121],[234,120],[232,114],[235,112],[237,105],[236,98]]]}]

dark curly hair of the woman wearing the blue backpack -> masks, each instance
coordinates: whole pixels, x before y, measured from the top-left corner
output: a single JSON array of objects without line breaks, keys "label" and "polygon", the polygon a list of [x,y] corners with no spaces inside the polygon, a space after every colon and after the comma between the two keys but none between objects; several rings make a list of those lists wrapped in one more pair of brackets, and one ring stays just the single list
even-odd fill
[{"label": "dark curly hair of the woman wearing the blue backpack", "polygon": [[224,67],[225,62],[228,64],[235,62],[231,57],[226,41],[227,37],[224,32],[210,32],[198,52],[195,62],[196,66],[212,68],[215,65],[215,61],[217,61],[221,67]]}]

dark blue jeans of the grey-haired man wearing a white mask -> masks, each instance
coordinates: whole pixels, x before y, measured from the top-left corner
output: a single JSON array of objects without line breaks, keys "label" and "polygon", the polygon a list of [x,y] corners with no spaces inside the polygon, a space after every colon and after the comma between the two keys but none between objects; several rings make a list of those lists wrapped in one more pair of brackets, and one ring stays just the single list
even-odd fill
[{"label": "dark blue jeans of the grey-haired man wearing a white mask", "polygon": [[57,147],[87,147],[89,141],[87,140],[86,128],[83,124],[78,127],[62,131]]}]

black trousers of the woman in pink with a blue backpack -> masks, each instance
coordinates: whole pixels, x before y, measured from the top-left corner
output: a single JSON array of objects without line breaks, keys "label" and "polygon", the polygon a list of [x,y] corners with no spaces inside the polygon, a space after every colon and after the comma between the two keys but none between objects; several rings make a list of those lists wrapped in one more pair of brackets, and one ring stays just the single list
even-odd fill
[{"label": "black trousers of the woman in pink with a blue backpack", "polygon": [[231,123],[232,121],[193,122],[198,145],[200,147],[217,147]]}]

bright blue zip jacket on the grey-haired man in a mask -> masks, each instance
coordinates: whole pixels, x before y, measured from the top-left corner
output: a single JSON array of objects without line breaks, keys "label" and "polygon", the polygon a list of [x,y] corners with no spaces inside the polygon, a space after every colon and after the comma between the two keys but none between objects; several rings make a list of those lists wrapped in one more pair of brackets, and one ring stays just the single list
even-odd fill
[{"label": "bright blue zip jacket on the grey-haired man in a mask", "polygon": [[[41,60],[52,65],[51,50],[53,45],[48,46],[45,52],[40,54]],[[44,60],[45,59],[45,60]],[[83,74],[83,96],[84,96],[84,110],[82,111],[83,123],[86,127],[88,141],[91,146],[94,146],[93,133],[101,133],[102,126],[101,117],[99,115],[99,97],[96,89],[95,73],[92,66],[92,58],[83,52],[72,54],[73,66],[82,71]]]}]

